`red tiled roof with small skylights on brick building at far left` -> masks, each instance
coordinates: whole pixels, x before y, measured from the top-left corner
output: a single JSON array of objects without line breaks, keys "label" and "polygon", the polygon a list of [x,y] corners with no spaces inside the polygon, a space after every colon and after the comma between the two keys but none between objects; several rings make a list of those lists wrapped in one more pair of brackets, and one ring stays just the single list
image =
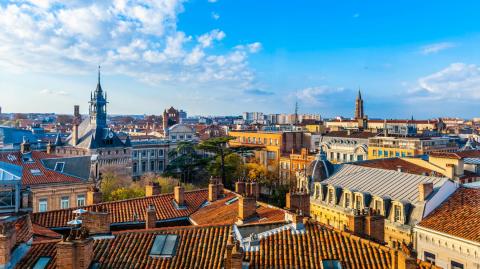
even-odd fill
[{"label": "red tiled roof with small skylights on brick building at far left", "polygon": [[[10,155],[10,157],[9,157]],[[56,155],[47,154],[41,151],[32,151],[32,163],[24,163],[22,161],[22,154],[19,151],[16,152],[2,152],[0,153],[0,161],[15,164],[23,167],[22,171],[22,185],[36,185],[36,184],[49,184],[49,183],[81,183],[84,180],[68,176],[62,173],[55,172],[47,169],[42,164],[42,159],[55,158]],[[14,157],[14,158],[12,158]],[[33,175],[31,169],[38,169],[41,175]]]}]

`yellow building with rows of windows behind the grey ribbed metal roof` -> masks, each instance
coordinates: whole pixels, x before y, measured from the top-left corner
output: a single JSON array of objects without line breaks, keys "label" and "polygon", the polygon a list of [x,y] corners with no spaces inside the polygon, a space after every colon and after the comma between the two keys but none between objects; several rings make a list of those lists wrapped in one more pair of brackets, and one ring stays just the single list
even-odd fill
[{"label": "yellow building with rows of windows behind the grey ribbed metal roof", "polygon": [[368,140],[368,159],[411,157],[431,152],[453,152],[458,145],[448,137],[376,136]]}]

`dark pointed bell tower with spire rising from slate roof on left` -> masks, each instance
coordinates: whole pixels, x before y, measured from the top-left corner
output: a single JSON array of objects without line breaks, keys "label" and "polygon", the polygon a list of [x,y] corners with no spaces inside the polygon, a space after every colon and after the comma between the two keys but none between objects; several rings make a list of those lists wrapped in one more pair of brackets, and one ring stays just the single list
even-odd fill
[{"label": "dark pointed bell tower with spire rising from slate roof on left", "polygon": [[100,84],[100,66],[98,66],[97,88],[90,94],[90,123],[99,128],[107,127],[107,93],[103,95],[102,85]]}]

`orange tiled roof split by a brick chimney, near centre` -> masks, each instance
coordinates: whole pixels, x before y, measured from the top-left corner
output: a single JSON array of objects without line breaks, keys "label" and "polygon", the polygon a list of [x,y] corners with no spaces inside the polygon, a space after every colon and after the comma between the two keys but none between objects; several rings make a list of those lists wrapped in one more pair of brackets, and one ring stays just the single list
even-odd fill
[{"label": "orange tiled roof split by a brick chimney, near centre", "polygon": [[[227,192],[224,198],[197,210],[190,219],[197,225],[234,224],[238,216],[238,200],[228,205],[225,202],[235,197],[238,195]],[[257,203],[257,206],[258,218],[252,219],[249,224],[285,221],[285,210],[264,203]]]}]

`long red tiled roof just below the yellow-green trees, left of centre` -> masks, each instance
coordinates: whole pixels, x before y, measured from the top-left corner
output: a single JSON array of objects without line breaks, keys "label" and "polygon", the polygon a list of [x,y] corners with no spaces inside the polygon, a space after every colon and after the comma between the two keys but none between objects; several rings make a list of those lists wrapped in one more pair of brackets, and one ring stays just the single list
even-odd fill
[{"label": "long red tiled roof just below the yellow-green trees, left of centre", "polygon": [[[89,211],[103,211],[111,213],[112,223],[144,221],[146,208],[153,204],[157,211],[158,220],[188,217],[195,212],[206,200],[206,189],[185,192],[185,208],[178,209],[173,200],[173,193],[161,194],[115,202],[99,203],[82,207]],[[75,208],[33,213],[32,221],[45,227],[65,227],[67,222],[74,219],[72,211]]]}]

